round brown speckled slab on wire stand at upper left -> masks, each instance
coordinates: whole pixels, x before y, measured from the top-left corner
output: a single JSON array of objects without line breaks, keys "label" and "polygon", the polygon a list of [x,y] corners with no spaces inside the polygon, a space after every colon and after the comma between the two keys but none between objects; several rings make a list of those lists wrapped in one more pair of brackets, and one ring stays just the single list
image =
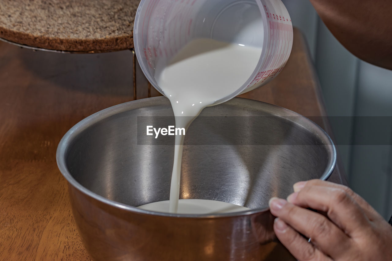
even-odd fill
[{"label": "round brown speckled slab on wire stand at upper left", "polygon": [[140,0],[0,0],[0,38],[59,51],[130,49],[139,3]]}]

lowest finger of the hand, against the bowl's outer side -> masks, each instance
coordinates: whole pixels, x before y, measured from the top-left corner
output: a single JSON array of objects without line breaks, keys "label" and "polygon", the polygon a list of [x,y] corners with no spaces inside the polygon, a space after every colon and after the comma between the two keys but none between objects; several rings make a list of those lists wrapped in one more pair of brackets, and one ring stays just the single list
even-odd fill
[{"label": "lowest finger of the hand, against the bowl's outer side", "polygon": [[279,241],[297,260],[331,260],[279,217],[277,217],[274,221],[274,231]]}]

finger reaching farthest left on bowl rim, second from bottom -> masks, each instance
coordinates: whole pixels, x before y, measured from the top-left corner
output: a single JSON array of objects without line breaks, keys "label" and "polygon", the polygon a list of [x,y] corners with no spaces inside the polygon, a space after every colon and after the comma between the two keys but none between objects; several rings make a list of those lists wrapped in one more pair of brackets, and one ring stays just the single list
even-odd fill
[{"label": "finger reaching farthest left on bowl rim, second from bottom", "polygon": [[270,210],[332,258],[338,258],[350,247],[350,238],[321,214],[277,198],[270,200]]}]

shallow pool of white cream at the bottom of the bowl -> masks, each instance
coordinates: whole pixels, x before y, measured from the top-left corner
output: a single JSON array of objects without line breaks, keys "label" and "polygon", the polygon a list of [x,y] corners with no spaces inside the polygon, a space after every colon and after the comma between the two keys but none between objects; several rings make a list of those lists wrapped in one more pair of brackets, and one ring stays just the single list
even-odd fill
[{"label": "shallow pool of white cream at the bottom of the bowl", "polygon": [[[169,212],[169,200],[142,205],[138,208],[157,212]],[[178,214],[220,214],[250,210],[222,201],[205,199],[180,199],[178,201]]]}]

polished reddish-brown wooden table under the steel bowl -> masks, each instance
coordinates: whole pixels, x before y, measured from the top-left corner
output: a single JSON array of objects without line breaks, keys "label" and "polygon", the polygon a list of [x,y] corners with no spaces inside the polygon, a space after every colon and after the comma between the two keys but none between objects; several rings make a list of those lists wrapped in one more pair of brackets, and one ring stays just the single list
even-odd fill
[{"label": "polished reddish-brown wooden table under the steel bowl", "polygon": [[[0,260],[89,260],[56,165],[62,136],[83,118],[133,99],[132,54],[33,52],[0,42]],[[325,116],[304,38],[271,83],[242,97]],[[318,118],[329,133],[326,118]],[[341,163],[331,180],[346,184]]]}]

